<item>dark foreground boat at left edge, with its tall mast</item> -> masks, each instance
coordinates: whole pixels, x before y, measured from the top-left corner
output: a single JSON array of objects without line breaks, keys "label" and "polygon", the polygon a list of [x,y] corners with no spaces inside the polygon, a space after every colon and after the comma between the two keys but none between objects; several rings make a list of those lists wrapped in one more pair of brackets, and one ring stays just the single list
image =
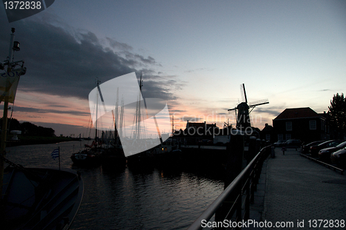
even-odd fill
[{"label": "dark foreground boat at left edge, with its tall mast", "polygon": [[[4,102],[0,148],[1,229],[69,229],[82,202],[84,186],[80,173],[71,170],[24,168],[6,159],[8,103],[15,101],[20,75],[26,73],[24,61],[13,61],[19,42],[12,28],[10,54],[0,75]],[[21,65],[15,69],[16,66]],[[4,169],[4,162],[8,164]]]}]

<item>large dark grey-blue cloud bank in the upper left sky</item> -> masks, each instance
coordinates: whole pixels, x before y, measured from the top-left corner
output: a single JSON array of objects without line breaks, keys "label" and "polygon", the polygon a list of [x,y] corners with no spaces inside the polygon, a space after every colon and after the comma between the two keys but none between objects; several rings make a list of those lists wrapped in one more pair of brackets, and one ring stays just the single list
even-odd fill
[{"label": "large dark grey-blue cloud bank in the upper left sky", "polygon": [[19,89],[87,99],[95,88],[95,77],[107,82],[136,72],[139,79],[144,72],[149,79],[145,79],[143,86],[144,97],[177,98],[172,90],[179,89],[179,82],[158,76],[151,69],[161,66],[154,57],[138,55],[128,44],[109,37],[106,37],[108,44],[105,46],[104,40],[93,32],[76,31],[52,15],[42,15],[42,18],[15,24],[0,18],[0,23],[6,25],[1,28],[0,57],[6,59],[8,56],[12,26],[16,28],[15,40],[21,44],[21,51],[15,52],[15,60],[24,59],[27,72],[21,77]]}]

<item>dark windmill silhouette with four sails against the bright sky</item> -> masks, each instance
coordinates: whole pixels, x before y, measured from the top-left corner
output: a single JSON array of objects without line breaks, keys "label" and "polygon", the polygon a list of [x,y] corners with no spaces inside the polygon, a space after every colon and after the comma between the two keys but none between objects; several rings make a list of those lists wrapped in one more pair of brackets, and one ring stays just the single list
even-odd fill
[{"label": "dark windmill silhouette with four sails against the bright sky", "polygon": [[[237,129],[245,131],[247,127],[251,127],[250,113],[253,111],[253,108],[262,104],[269,104],[269,101],[268,99],[262,99],[260,101],[248,103],[244,84],[240,85],[240,93],[242,94],[242,103],[238,104],[235,108],[228,109],[228,111],[235,111],[235,117],[237,117]],[[250,108],[251,111],[249,111]]]}]

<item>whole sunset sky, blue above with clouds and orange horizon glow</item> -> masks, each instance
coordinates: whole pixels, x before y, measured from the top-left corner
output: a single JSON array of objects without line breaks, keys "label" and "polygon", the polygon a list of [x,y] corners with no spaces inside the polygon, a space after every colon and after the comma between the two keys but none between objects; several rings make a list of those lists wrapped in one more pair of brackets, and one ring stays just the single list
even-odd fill
[{"label": "whole sunset sky, blue above with clouds and orange horizon glow", "polygon": [[249,102],[270,102],[251,112],[261,130],[285,108],[327,112],[346,88],[346,1],[56,0],[12,23],[1,7],[0,25],[1,60],[14,27],[27,67],[13,117],[56,135],[89,135],[95,77],[143,73],[175,128],[235,124],[243,83]]}]

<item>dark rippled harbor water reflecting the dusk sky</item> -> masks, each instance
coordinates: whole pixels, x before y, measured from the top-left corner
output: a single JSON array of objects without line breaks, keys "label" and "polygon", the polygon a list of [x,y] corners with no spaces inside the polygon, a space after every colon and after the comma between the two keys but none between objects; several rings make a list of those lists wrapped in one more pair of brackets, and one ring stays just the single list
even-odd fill
[{"label": "dark rippled harbor water reflecting the dusk sky", "polygon": [[84,197],[71,229],[186,229],[224,190],[221,175],[196,166],[85,169],[71,153],[86,142],[7,147],[6,158],[25,167],[78,170]]}]

